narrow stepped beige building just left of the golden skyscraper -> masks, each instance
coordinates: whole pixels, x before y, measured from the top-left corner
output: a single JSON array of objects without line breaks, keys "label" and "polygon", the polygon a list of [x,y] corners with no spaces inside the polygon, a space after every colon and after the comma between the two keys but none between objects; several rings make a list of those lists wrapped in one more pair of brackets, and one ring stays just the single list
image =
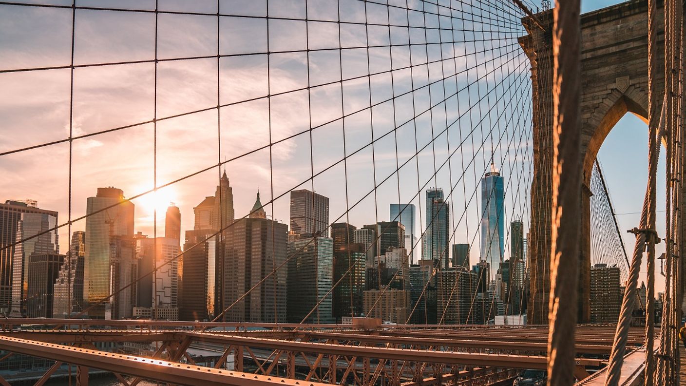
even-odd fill
[{"label": "narrow stepped beige building just left of the golden skyscraper", "polygon": [[[69,253],[55,280],[53,317],[64,318],[83,310],[84,256],[86,255],[86,232],[75,231],[71,235]],[[71,297],[71,302],[69,298]],[[71,306],[71,309],[70,309]]]}]

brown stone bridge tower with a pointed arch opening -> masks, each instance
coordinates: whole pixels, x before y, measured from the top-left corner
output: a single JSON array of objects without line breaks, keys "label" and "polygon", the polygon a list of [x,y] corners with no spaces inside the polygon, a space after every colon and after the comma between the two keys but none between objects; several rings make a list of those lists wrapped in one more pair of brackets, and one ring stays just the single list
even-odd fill
[{"label": "brown stone bridge tower with a pointed arch opening", "polygon": [[[662,4],[658,16],[658,68],[654,95],[664,90]],[[530,296],[528,323],[547,324],[550,291],[552,214],[552,10],[536,15],[545,30],[523,19],[528,35],[519,43],[531,61],[533,90],[534,178],[528,238]],[[590,320],[591,218],[589,182],[595,156],[605,137],[626,113],[648,123],[648,1],[634,0],[581,16],[581,115],[584,186],[578,288],[578,323]],[[660,103],[661,105],[661,103]],[[659,111],[659,106],[658,110]],[[647,146],[646,138],[646,146]],[[643,170],[637,170],[644,173]]]}]

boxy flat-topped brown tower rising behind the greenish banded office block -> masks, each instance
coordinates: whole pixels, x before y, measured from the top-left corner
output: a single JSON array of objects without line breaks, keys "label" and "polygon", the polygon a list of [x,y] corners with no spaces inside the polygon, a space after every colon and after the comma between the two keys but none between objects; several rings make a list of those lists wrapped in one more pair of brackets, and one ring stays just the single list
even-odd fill
[{"label": "boxy flat-topped brown tower rising behind the greenish banded office block", "polygon": [[292,190],[291,231],[329,237],[329,197],[305,189]]}]

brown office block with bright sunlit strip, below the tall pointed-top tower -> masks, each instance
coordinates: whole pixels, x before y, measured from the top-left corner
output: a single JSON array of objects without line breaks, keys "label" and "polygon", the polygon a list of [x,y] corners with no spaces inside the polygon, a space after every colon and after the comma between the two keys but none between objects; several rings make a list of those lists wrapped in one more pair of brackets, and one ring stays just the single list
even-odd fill
[{"label": "brown office block with bright sunlit strip, below the tall pointed-top tower", "polygon": [[222,249],[213,233],[208,229],[186,231],[178,265],[180,320],[206,321],[215,315],[216,261]]}]

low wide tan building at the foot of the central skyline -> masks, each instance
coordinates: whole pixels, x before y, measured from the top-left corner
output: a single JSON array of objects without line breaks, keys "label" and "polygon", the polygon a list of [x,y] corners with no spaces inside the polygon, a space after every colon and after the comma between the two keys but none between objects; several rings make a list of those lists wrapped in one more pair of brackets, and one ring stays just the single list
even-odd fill
[{"label": "low wide tan building at the foot of the central skyline", "polygon": [[410,291],[391,289],[364,291],[366,317],[381,318],[391,323],[407,323]]}]

